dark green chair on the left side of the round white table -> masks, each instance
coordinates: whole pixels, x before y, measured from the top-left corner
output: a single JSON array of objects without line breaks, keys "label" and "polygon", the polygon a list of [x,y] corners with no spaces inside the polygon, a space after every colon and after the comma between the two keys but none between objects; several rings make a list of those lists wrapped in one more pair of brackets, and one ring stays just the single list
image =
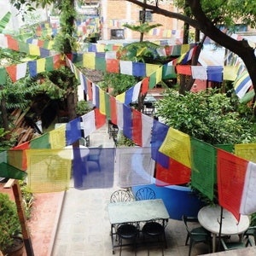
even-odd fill
[{"label": "dark green chair on the left side of the round white table", "polygon": [[186,230],[188,232],[185,245],[187,245],[189,241],[189,256],[191,254],[192,247],[199,242],[207,243],[209,245],[209,253],[210,253],[211,252],[211,233],[201,226],[196,228],[189,227],[189,222],[198,223],[197,218],[187,217],[185,215],[183,215],[182,218],[183,218],[183,223],[185,224]]}]

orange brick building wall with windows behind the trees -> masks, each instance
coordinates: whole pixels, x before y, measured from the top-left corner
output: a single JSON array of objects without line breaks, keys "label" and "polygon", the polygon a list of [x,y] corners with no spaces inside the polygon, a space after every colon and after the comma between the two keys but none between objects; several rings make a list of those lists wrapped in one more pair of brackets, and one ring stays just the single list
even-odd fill
[{"label": "orange brick building wall with windows behind the trees", "polygon": [[[177,11],[171,3],[163,3],[159,5],[160,8],[169,11]],[[130,29],[123,27],[125,23],[131,25],[139,25],[139,12],[141,7],[136,4],[129,3],[124,0],[102,0],[102,39],[110,39],[111,29],[124,29],[125,39],[139,39],[139,32],[132,32]],[[181,37],[183,22],[172,19],[163,15],[153,14],[153,21],[150,25],[160,23],[160,26],[148,34],[144,35],[144,39],[159,39]]]}]

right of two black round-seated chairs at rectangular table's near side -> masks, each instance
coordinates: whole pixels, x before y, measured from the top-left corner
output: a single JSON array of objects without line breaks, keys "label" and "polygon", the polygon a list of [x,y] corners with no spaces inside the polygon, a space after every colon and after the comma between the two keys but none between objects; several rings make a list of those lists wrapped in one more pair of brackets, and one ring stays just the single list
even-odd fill
[{"label": "right of two black round-seated chairs at rectangular table's near side", "polygon": [[[146,222],[146,224],[143,225],[143,237],[144,238],[153,238],[160,241],[162,238],[161,243],[161,249],[162,249],[162,255],[164,255],[164,245],[167,247],[166,243],[166,225],[167,220],[163,218],[153,218]],[[151,240],[148,242],[152,242]],[[148,244],[147,242],[147,244]],[[148,246],[148,255],[149,255],[149,246]]]}]

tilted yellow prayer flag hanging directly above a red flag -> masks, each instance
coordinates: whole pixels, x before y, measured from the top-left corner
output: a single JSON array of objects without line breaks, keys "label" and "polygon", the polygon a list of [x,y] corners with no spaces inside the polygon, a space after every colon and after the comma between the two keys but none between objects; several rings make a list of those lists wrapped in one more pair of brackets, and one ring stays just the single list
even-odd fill
[{"label": "tilted yellow prayer flag hanging directly above a red flag", "polygon": [[191,167],[190,137],[188,134],[170,127],[159,151],[184,166]]}]

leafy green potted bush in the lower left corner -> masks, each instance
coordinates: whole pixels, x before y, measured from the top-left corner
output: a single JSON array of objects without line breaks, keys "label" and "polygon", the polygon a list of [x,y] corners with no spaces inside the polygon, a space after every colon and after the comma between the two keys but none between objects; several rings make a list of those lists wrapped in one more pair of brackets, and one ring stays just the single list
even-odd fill
[{"label": "leafy green potted bush in the lower left corner", "polygon": [[11,246],[13,237],[20,234],[21,228],[15,202],[3,193],[0,193],[0,216],[0,250],[4,251]]}]

